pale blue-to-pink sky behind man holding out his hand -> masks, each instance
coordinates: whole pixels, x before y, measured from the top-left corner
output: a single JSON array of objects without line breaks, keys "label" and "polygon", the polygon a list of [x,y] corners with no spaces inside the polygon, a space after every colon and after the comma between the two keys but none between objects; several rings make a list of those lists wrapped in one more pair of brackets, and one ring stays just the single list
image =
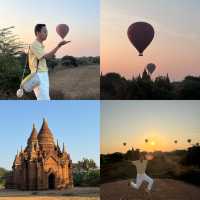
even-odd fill
[{"label": "pale blue-to-pink sky behind man holding out his hand", "polygon": [[61,41],[56,26],[64,23],[70,27],[65,39],[72,42],[60,49],[57,57],[98,56],[99,7],[99,0],[0,0],[0,28],[15,26],[13,32],[30,44],[35,39],[34,26],[45,23],[49,35],[44,45],[48,52]]}]

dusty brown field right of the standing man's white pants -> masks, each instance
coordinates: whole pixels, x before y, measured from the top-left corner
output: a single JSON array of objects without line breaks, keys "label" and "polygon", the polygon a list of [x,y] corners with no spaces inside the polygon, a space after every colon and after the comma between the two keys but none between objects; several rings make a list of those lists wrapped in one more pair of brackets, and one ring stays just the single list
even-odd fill
[{"label": "dusty brown field right of the standing man's white pants", "polygon": [[50,73],[50,85],[54,99],[99,99],[100,67],[59,68]]}]

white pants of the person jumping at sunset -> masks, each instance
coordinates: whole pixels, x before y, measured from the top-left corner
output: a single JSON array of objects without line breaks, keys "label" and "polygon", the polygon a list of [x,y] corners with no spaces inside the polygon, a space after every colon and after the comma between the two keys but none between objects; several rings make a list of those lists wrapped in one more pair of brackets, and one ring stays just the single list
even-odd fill
[{"label": "white pants of the person jumping at sunset", "polygon": [[153,186],[153,179],[147,176],[145,173],[144,174],[137,174],[136,177],[136,183],[131,181],[131,186],[135,189],[139,189],[142,183],[146,181],[148,183],[148,190],[150,191],[152,186]]}]

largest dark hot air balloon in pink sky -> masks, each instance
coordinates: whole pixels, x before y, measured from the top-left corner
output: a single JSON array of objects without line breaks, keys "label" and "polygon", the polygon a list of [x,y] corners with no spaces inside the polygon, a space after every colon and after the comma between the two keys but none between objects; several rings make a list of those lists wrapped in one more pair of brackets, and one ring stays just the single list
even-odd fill
[{"label": "largest dark hot air balloon in pink sky", "polygon": [[149,23],[136,22],[129,26],[127,34],[139,56],[143,56],[144,50],[154,38],[154,28]]}]

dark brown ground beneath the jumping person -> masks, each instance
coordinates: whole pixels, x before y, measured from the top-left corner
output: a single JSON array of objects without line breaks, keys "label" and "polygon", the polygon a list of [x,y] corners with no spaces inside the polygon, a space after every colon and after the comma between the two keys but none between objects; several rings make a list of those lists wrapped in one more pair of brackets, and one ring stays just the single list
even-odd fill
[{"label": "dark brown ground beneath the jumping person", "polygon": [[156,179],[152,192],[128,186],[128,180],[106,183],[101,186],[101,200],[199,200],[200,188],[171,179]]}]

